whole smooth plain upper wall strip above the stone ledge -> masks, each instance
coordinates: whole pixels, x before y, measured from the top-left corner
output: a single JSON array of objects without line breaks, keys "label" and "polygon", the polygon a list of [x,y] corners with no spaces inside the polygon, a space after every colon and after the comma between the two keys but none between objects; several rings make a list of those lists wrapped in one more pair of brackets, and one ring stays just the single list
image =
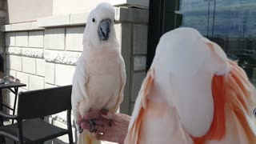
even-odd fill
[{"label": "whole smooth plain upper wall strip above the stone ledge", "polygon": [[100,2],[145,9],[149,6],[149,0],[6,0],[2,2],[6,4],[6,24],[32,22],[53,15],[82,13],[90,11]]}]

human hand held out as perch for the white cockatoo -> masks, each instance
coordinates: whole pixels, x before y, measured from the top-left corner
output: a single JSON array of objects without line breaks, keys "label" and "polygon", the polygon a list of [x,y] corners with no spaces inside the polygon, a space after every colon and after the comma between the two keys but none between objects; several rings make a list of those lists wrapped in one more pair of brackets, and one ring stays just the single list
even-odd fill
[{"label": "human hand held out as perch for the white cockatoo", "polygon": [[126,114],[91,111],[78,119],[82,129],[90,130],[89,120],[94,119],[95,138],[102,141],[123,143],[126,138],[130,116]]}]

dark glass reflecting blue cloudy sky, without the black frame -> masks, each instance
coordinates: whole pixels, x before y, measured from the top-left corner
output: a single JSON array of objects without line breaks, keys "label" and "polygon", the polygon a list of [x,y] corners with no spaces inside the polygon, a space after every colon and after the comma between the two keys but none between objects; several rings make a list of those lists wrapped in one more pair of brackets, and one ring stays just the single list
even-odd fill
[{"label": "dark glass reflecting blue cloudy sky, without the black frame", "polygon": [[[255,0],[180,0],[175,9],[176,27],[194,27],[217,42],[256,86]],[[170,17],[170,11],[166,11],[166,17]],[[171,22],[166,18],[165,23]]]}]

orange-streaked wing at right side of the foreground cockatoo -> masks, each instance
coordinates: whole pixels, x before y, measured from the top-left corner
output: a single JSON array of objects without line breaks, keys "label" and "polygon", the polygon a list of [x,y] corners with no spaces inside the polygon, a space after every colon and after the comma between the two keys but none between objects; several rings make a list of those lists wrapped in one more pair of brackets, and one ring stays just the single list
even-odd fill
[{"label": "orange-streaked wing at right side of the foreground cockatoo", "polygon": [[[226,143],[256,142],[255,87],[250,83],[244,70],[235,62],[230,62],[232,70],[224,82],[226,97]],[[233,123],[233,126],[228,126]],[[235,135],[238,134],[238,137]],[[235,138],[233,138],[235,137]]]}]

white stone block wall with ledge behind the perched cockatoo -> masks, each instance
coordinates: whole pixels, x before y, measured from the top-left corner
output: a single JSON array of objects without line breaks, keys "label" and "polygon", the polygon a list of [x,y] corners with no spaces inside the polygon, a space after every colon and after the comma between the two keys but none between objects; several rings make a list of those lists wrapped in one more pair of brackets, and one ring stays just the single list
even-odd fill
[{"label": "white stone block wall with ledge behind the perched cockatoo", "polygon": [[[122,7],[116,8],[116,12],[115,29],[127,74],[125,98],[120,110],[131,114],[146,76],[148,10]],[[82,33],[87,15],[68,14],[2,26],[6,35],[6,74],[26,84],[20,90],[71,84],[75,63],[82,52]],[[14,95],[8,97],[7,94],[6,102],[13,106]],[[66,113],[55,114],[49,121],[65,127]],[[66,136],[59,139],[68,142]]]}]

